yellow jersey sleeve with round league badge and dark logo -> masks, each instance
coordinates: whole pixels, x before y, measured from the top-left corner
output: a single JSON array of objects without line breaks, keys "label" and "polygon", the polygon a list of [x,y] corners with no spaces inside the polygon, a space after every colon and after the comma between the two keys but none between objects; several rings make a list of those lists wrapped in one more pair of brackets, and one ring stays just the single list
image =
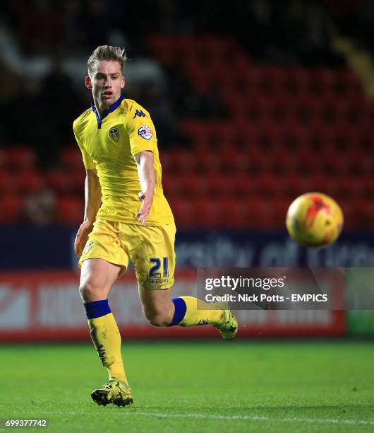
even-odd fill
[{"label": "yellow jersey sleeve with round league badge and dark logo", "polygon": [[153,152],[157,149],[155,125],[153,125],[149,113],[142,109],[140,105],[129,110],[125,127],[133,156],[139,152]]}]

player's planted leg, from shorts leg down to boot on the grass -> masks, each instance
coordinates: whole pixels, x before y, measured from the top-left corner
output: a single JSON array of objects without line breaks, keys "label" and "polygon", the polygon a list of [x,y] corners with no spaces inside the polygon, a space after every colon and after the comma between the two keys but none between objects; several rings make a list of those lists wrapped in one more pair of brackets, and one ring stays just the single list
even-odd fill
[{"label": "player's planted leg, from shorts leg down to boot on the grass", "polygon": [[109,381],[92,393],[98,404],[132,403],[121,357],[121,335],[108,303],[111,286],[126,272],[128,255],[121,248],[116,224],[97,219],[80,256],[80,295],[90,326],[90,334]]}]

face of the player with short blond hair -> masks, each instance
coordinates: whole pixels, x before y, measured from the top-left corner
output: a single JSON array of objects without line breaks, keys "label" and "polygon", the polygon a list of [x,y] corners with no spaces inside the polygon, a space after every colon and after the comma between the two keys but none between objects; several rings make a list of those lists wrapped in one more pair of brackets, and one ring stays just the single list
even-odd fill
[{"label": "face of the player with short blond hair", "polygon": [[85,77],[85,84],[92,89],[95,105],[99,105],[99,108],[107,108],[121,96],[125,79],[118,62],[102,60],[95,62],[92,73]]}]

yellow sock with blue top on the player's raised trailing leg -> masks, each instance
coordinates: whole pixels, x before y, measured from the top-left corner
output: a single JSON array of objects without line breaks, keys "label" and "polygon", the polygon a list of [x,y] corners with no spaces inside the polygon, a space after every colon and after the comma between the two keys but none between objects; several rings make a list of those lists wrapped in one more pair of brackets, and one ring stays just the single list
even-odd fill
[{"label": "yellow sock with blue top on the player's raised trailing leg", "polygon": [[221,325],[224,321],[224,311],[220,309],[210,310],[210,304],[193,296],[181,296],[171,299],[174,302],[175,313],[172,325],[195,326],[195,325]]}]

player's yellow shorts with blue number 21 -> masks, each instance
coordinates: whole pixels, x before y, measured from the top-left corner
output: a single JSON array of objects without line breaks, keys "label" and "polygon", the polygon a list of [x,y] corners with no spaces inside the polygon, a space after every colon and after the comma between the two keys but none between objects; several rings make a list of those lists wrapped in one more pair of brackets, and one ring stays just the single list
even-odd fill
[{"label": "player's yellow shorts with blue number 21", "polygon": [[175,233],[174,223],[143,227],[97,219],[78,265],[90,258],[102,258],[123,267],[120,277],[131,260],[141,287],[169,289],[174,283]]}]

